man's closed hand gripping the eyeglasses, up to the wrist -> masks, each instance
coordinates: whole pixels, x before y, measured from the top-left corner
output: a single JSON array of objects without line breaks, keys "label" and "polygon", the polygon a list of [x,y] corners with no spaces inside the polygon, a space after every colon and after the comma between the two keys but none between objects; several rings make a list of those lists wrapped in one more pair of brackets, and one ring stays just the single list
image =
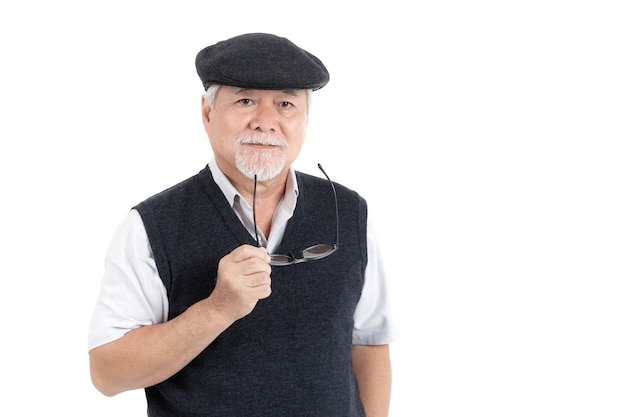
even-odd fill
[{"label": "man's closed hand gripping the eyeglasses, up to the wrist", "polygon": [[250,245],[239,246],[224,256],[208,298],[211,307],[231,322],[250,314],[259,300],[272,293],[270,259],[265,248]]}]

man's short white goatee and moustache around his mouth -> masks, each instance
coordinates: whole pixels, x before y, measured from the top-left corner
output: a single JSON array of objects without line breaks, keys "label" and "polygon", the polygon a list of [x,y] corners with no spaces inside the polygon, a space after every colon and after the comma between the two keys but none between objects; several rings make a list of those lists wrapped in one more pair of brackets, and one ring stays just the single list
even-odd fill
[{"label": "man's short white goatee and moustache around his mouth", "polygon": [[[279,138],[265,133],[257,135],[239,136],[236,141],[239,145],[235,153],[235,165],[237,169],[246,177],[257,181],[268,181],[276,178],[285,168],[287,155],[285,149],[287,143]],[[258,150],[246,144],[273,145],[275,150]]]}]

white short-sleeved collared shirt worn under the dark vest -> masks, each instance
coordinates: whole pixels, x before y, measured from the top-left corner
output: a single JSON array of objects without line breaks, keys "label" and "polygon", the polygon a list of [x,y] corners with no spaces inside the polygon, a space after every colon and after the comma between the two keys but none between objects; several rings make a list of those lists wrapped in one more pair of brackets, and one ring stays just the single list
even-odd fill
[{"label": "white short-sleeved collared shirt worn under the dark vest", "polygon": [[[252,208],[221,172],[215,159],[209,164],[220,187],[242,224],[254,237]],[[295,172],[290,169],[285,196],[272,219],[272,232],[266,239],[259,232],[269,253],[280,244],[287,221],[298,198]],[[376,236],[368,216],[365,281],[354,313],[352,343],[379,345],[395,338],[389,291]],[[94,308],[88,336],[88,349],[112,342],[126,332],[167,321],[167,292],[159,277],[143,221],[131,210],[118,226],[105,257],[100,294]]]}]

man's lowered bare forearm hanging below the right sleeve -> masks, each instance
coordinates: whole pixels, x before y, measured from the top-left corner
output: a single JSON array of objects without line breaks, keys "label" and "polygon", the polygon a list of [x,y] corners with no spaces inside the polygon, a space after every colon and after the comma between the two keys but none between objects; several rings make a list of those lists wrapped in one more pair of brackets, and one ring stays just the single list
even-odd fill
[{"label": "man's lowered bare forearm hanging below the right sleeve", "polygon": [[389,345],[352,346],[352,365],[367,417],[387,417],[391,400]]}]

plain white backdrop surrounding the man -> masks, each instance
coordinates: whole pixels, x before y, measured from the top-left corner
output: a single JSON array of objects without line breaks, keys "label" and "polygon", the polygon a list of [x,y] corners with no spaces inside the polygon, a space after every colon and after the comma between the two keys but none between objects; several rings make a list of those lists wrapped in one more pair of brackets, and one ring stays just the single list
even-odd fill
[{"label": "plain white backdrop surrounding the man", "polygon": [[210,158],[195,54],[263,31],[330,70],[297,167],[370,203],[392,417],[623,417],[621,3],[3,2],[0,414],[145,415],[89,380],[104,252]]}]

